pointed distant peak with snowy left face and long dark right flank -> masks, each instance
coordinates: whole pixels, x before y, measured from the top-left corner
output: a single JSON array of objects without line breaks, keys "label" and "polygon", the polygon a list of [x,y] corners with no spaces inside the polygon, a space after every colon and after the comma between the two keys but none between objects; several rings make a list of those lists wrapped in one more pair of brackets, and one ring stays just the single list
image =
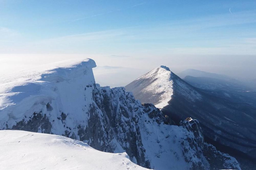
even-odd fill
[{"label": "pointed distant peak with snowy left face and long dark right flank", "polygon": [[[205,93],[164,66],[139,77],[125,88],[141,102],[161,106],[163,114],[176,124],[186,117],[193,117],[199,120],[208,141],[256,159],[254,107]],[[162,89],[162,93],[154,89]]]}]

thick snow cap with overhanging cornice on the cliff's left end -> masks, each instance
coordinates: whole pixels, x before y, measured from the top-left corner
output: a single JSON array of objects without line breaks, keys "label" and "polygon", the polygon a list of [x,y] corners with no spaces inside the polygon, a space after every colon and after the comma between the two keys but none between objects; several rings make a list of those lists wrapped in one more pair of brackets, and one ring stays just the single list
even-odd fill
[{"label": "thick snow cap with overhanging cornice on the cliff's left end", "polygon": [[[91,96],[91,86],[95,83],[93,67],[96,64],[92,59],[68,60],[42,66],[37,72],[27,70],[25,73],[17,73],[15,76],[20,77],[18,79],[3,76],[2,79],[6,81],[0,88],[0,129],[5,129],[6,124],[12,128],[24,117],[29,118],[33,112],[41,111],[56,120],[51,130],[54,134],[65,133],[59,128],[63,126],[62,123],[57,121],[63,111],[74,117],[73,120],[66,121],[68,127],[73,128],[77,122],[86,122],[88,116],[84,113],[88,112],[89,105],[93,103],[91,98],[87,98]],[[55,109],[47,109],[48,103]]]}]

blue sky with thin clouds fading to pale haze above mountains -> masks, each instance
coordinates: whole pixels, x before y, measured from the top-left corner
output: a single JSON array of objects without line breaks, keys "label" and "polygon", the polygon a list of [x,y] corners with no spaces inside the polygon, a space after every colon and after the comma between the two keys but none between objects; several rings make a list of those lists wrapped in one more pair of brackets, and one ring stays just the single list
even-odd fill
[{"label": "blue sky with thin clouds fading to pale haze above mountains", "polygon": [[256,1],[0,0],[0,15],[1,58],[84,55],[102,66],[256,72]]}]

